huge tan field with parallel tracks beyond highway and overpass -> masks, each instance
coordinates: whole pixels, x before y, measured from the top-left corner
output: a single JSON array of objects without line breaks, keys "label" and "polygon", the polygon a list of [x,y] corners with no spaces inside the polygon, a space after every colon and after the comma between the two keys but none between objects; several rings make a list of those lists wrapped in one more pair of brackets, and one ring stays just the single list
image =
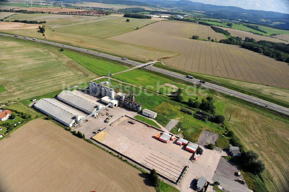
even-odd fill
[{"label": "huge tan field with parallel tracks beyond highway and overpass", "polygon": [[[289,87],[289,66],[284,62],[235,45],[192,40],[181,37],[183,35],[177,36],[176,31],[158,29],[159,23],[170,22],[160,21],[137,31],[108,39],[179,52],[177,57],[160,60],[168,66],[181,70]],[[154,30],[166,32],[156,33]],[[179,32],[179,34],[184,33]]]}]

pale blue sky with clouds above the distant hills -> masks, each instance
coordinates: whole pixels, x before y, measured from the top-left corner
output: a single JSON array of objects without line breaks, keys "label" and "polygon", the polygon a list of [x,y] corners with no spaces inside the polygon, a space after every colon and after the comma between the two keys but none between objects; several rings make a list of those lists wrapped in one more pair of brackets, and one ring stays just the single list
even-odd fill
[{"label": "pale blue sky with clouds above the distant hills", "polygon": [[276,11],[289,14],[289,0],[190,0],[212,5],[236,6],[243,9]]}]

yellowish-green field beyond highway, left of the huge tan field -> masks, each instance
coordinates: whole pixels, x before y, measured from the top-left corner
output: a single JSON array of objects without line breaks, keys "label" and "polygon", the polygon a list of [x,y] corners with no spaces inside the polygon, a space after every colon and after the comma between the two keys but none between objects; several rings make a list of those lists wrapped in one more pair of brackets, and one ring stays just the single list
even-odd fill
[{"label": "yellowish-green field beyond highway, left of the huge tan field", "polygon": [[123,33],[128,33],[136,29],[136,27],[143,27],[150,23],[155,22],[150,19],[136,19],[129,18],[129,22],[126,22],[125,17],[111,18],[93,23],[70,25],[65,27],[58,27],[54,30],[60,33],[70,33],[77,35],[84,35],[97,38],[108,38]]}]

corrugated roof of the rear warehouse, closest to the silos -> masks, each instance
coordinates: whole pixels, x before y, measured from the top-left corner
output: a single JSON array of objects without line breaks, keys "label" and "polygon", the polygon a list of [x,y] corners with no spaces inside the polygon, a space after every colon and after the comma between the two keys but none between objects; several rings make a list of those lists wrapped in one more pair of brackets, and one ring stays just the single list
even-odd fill
[{"label": "corrugated roof of the rear warehouse, closest to the silos", "polygon": [[86,98],[81,97],[80,94],[76,94],[75,92],[64,90],[59,95],[59,98],[66,100],[77,107],[83,108],[90,113],[93,113],[97,110],[97,102],[92,102]]}]

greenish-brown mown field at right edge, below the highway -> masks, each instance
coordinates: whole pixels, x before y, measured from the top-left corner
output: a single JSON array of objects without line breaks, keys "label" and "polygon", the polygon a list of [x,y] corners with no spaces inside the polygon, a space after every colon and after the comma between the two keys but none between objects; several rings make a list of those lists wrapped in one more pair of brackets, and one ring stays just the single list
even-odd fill
[{"label": "greenish-brown mown field at right edge, below the highway", "polygon": [[[270,191],[289,191],[289,126],[266,115],[227,103],[225,116],[232,115],[227,123],[229,130],[237,135],[247,149],[259,154],[265,163],[264,180]],[[266,139],[265,139],[266,138]],[[270,179],[272,176],[273,181]]]}]

